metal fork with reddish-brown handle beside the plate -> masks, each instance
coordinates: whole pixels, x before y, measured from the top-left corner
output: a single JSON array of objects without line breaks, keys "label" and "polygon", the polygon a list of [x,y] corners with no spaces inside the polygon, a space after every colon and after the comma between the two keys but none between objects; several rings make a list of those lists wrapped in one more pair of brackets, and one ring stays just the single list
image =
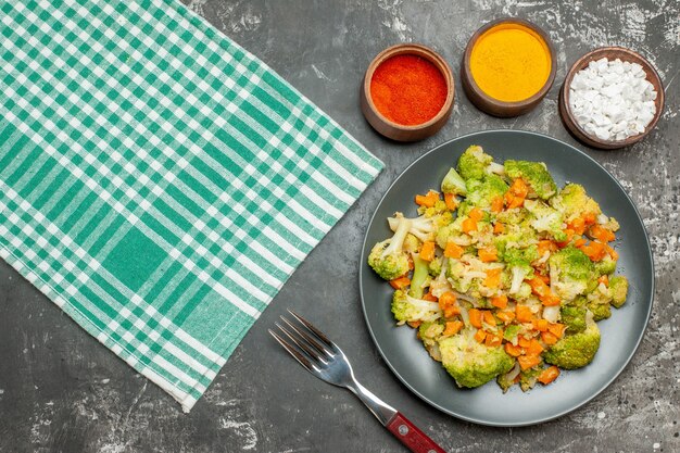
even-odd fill
[{"label": "metal fork with reddish-brown handle beside the plate", "polygon": [[354,378],[354,372],[352,372],[348,357],[336,343],[302,316],[291,310],[288,310],[288,313],[293,316],[295,322],[290,322],[281,316],[285,325],[275,323],[282,335],[272,329],[268,330],[300,365],[328,383],[351,390],[376,418],[412,452],[445,453],[441,446],[437,445],[400,412],[358,383]]}]

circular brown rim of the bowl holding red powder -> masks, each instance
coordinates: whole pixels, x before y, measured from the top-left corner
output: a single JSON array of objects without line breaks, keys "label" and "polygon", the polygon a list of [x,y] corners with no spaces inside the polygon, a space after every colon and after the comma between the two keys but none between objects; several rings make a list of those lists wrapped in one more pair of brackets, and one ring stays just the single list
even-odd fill
[{"label": "circular brown rim of the bowl holding red powder", "polygon": [[[411,48],[411,49],[410,49]],[[401,50],[403,50],[403,53],[399,53]],[[408,50],[412,50],[411,52]],[[413,52],[415,51],[415,52]],[[430,59],[427,59],[430,63],[432,63],[435,65],[435,67],[437,67],[437,70],[441,73],[442,77],[444,78],[445,83],[446,83],[446,99],[444,100],[443,105],[441,106],[441,109],[439,110],[439,112],[437,112],[437,114],[435,116],[432,116],[431,118],[429,118],[427,122],[425,123],[420,123],[420,124],[415,124],[415,125],[403,125],[403,124],[399,124],[395,123],[389,118],[387,118],[382,112],[380,112],[378,110],[378,108],[376,106],[376,104],[373,102],[373,98],[370,96],[370,81],[373,80],[373,75],[375,74],[376,70],[386,61],[388,61],[389,59],[391,59],[392,56],[396,56],[400,54],[413,54],[416,56],[420,56],[420,54],[418,54],[417,52],[423,52],[426,54],[429,54],[429,56],[431,56],[433,60],[437,61],[437,63],[432,62]],[[441,65],[441,67],[440,67]],[[442,71],[443,67],[443,71]],[[420,130],[420,129],[425,129],[431,125],[433,125],[435,123],[437,123],[438,121],[440,121],[443,116],[446,115],[446,112],[453,106],[453,97],[454,97],[454,91],[455,91],[455,81],[453,79],[453,72],[451,71],[451,66],[449,66],[449,63],[446,63],[446,60],[444,60],[443,56],[441,56],[438,52],[436,52],[433,49],[421,45],[421,43],[399,43],[399,45],[394,45],[391,47],[388,47],[387,49],[382,50],[380,53],[378,53],[372,61],[370,63],[368,63],[368,70],[366,71],[366,74],[364,76],[364,93],[366,96],[366,101],[368,103],[368,106],[370,108],[370,110],[380,118],[380,121],[382,121],[383,123],[390,125],[391,127],[394,127],[396,129],[401,129],[401,130]]]}]

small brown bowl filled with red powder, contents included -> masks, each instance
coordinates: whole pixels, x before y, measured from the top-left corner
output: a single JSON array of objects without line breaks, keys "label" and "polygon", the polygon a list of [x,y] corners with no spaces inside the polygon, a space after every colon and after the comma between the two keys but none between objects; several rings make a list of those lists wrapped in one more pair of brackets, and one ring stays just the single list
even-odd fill
[{"label": "small brown bowl filled with red powder, contents included", "polygon": [[453,73],[432,49],[396,45],[368,65],[361,88],[362,112],[378,133],[417,141],[437,133],[451,116]]}]

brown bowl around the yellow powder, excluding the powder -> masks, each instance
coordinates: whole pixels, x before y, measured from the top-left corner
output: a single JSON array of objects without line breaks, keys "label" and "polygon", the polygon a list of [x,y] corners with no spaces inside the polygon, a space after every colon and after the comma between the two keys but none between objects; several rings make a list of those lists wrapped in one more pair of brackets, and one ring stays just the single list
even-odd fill
[{"label": "brown bowl around the yellow powder, excluding the powder", "polygon": [[[511,24],[511,25],[517,24],[526,28],[529,28],[530,30],[532,30],[533,33],[536,33],[538,36],[540,36],[543,39],[550,52],[551,68],[550,68],[550,74],[547,76],[547,79],[545,80],[545,84],[543,84],[541,89],[537,91],[536,95],[522,101],[505,102],[505,101],[501,101],[499,99],[490,97],[489,95],[483,92],[481,88],[479,88],[470,71],[470,56],[473,54],[473,48],[475,47],[477,41],[489,29],[498,25],[503,25],[503,24]],[[545,95],[547,95],[547,91],[553,86],[553,81],[555,81],[556,71],[557,71],[557,62],[556,62],[555,49],[547,34],[543,32],[541,28],[539,28],[537,25],[528,21],[516,18],[516,17],[506,17],[506,18],[499,18],[496,21],[492,21],[488,23],[487,25],[482,26],[481,28],[479,28],[477,32],[475,32],[470,40],[467,42],[467,47],[465,48],[465,53],[463,54],[463,61],[461,63],[461,80],[462,80],[463,89],[465,90],[465,93],[467,95],[470,102],[473,102],[475,106],[477,106],[477,109],[493,116],[512,117],[512,116],[522,115],[529,112],[541,102],[541,100],[545,97]]]}]

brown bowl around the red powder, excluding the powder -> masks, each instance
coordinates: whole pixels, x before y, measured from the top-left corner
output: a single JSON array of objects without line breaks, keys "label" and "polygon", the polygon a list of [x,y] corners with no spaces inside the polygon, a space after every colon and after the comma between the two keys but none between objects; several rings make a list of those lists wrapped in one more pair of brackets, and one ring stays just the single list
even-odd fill
[{"label": "brown bowl around the red powder, excluding the powder", "polygon": [[[370,80],[373,79],[376,68],[388,59],[403,54],[416,55],[429,61],[437,66],[446,81],[446,100],[444,101],[444,104],[439,113],[428,122],[415,126],[405,126],[388,119],[378,111],[376,104],[370,98]],[[442,59],[437,52],[421,45],[396,45],[378,53],[378,55],[368,65],[360,93],[362,112],[373,128],[387,138],[396,141],[423,140],[441,129],[449,119],[449,116],[451,116],[454,90],[453,73],[449,67],[449,64],[446,64],[444,59]]]}]

